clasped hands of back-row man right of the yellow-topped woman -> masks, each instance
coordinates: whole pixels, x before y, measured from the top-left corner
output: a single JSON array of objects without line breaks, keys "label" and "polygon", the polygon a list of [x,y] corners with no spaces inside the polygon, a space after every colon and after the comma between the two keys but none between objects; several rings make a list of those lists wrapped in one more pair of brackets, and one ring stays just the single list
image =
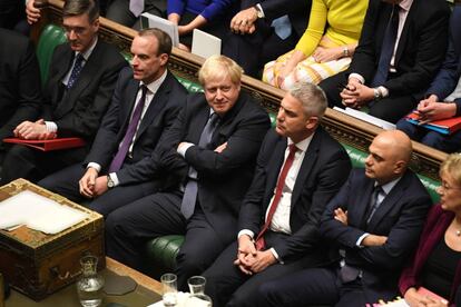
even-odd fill
[{"label": "clasped hands of back-row man right of the yellow-topped woman", "polygon": [[340,92],[345,107],[360,109],[374,98],[374,89],[362,85],[355,78],[349,78],[347,85]]}]

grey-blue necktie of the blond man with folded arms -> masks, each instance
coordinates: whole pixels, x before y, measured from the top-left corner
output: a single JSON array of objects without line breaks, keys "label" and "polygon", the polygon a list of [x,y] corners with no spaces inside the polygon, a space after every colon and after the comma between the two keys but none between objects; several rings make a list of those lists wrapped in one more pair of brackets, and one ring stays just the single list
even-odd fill
[{"label": "grey-blue necktie of the blond man with folded arms", "polygon": [[[212,141],[213,132],[215,131],[217,123],[219,122],[219,117],[217,113],[212,113],[209,119],[202,131],[200,139],[198,140],[198,146],[200,148],[206,148]],[[183,201],[180,204],[180,211],[186,219],[190,218],[194,214],[195,202],[197,200],[197,171],[189,167],[188,181],[184,190]]]}]

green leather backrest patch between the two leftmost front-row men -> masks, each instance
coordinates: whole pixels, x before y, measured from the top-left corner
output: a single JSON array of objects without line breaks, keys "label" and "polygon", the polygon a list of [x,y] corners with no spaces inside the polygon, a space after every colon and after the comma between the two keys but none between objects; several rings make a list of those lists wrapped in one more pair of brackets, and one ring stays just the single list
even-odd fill
[{"label": "green leather backrest patch between the two leftmost front-row men", "polygon": [[37,58],[40,66],[42,83],[48,79],[48,70],[55,48],[58,44],[66,42],[66,33],[61,27],[50,23],[43,28],[37,46]]}]

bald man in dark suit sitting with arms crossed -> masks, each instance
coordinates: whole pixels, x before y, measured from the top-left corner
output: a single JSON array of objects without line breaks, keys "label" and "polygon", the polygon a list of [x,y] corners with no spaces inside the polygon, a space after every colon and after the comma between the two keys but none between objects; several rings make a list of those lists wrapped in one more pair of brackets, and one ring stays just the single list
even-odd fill
[{"label": "bald man in dark suit sitting with arms crossed", "polygon": [[321,234],[334,260],[261,287],[261,306],[365,306],[393,299],[408,256],[431,206],[409,170],[411,141],[399,130],[377,135],[365,169],[351,172],[322,216]]}]

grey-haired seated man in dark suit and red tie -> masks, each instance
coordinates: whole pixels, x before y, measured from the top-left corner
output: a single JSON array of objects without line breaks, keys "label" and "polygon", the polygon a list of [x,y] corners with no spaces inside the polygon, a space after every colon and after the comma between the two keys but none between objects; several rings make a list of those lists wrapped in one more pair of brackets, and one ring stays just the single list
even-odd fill
[{"label": "grey-haired seated man in dark suit and red tie", "polygon": [[242,205],[238,241],[204,273],[214,306],[254,306],[261,284],[326,258],[320,218],[351,161],[318,125],[325,109],[325,95],[314,85],[300,85],[282,100]]}]

